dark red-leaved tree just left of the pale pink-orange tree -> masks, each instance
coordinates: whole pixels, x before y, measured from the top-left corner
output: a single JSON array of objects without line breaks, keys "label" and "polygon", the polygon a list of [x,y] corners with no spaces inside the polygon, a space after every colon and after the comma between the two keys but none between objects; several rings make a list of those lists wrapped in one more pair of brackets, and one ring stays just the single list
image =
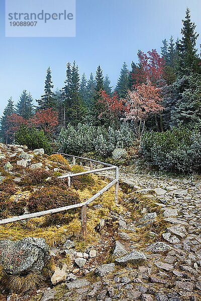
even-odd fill
[{"label": "dark red-leaved tree just left of the pale pink-orange tree", "polygon": [[117,92],[114,92],[112,96],[109,96],[106,91],[101,90],[99,94],[100,99],[98,102],[102,103],[103,107],[102,112],[98,117],[110,120],[111,124],[118,129],[120,118],[123,117],[125,110],[127,109],[125,100],[119,99]]}]

